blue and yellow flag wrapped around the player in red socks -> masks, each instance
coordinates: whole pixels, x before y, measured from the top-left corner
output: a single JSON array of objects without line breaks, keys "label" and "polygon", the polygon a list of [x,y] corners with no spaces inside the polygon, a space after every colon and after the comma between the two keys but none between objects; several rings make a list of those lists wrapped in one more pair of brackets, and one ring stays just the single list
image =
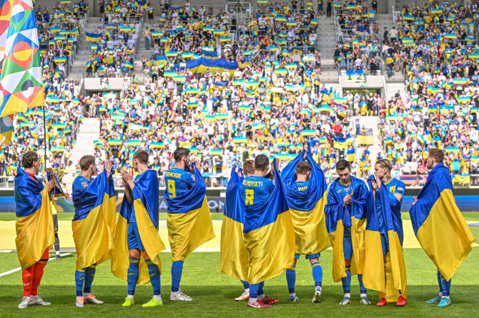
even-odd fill
[{"label": "blue and yellow flag wrapped around the player in red socks", "polygon": [[41,259],[55,241],[48,190],[38,179],[19,169],[15,176],[16,251],[21,269]]}]

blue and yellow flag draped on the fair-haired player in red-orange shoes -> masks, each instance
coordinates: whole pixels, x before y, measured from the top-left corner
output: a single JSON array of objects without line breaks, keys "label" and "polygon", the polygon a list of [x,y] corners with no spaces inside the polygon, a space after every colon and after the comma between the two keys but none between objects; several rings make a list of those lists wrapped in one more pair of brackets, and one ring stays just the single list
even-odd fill
[{"label": "blue and yellow flag draped on the fair-haired player in red-orange shoes", "polygon": [[[367,180],[372,189],[371,176]],[[403,223],[401,221],[401,204],[392,192],[387,190],[381,180],[381,189],[377,189],[376,198],[374,191],[367,195],[366,202],[366,232],[365,232],[365,263],[362,271],[362,282],[367,289],[375,289],[380,298],[386,297],[389,302],[396,302],[399,298],[399,290],[403,296],[408,296],[406,284],[406,267],[403,255]],[[375,200],[380,200],[382,215],[387,229],[389,241],[389,253],[386,264],[382,254],[382,242],[380,227],[377,221]],[[395,209],[392,209],[395,207]],[[386,269],[385,269],[386,266]],[[386,275],[386,282],[385,282]]]}]

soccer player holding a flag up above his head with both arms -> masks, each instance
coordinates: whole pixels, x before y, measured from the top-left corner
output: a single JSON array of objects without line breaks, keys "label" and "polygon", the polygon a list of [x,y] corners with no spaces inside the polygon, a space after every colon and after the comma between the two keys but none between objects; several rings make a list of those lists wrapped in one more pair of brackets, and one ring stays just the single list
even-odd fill
[{"label": "soccer player holding a flag up above his head with both arms", "polygon": [[[314,205],[316,206],[317,202],[312,202],[312,204],[308,204],[310,201],[310,193],[307,192],[308,187],[310,187],[310,175],[311,175],[311,165],[308,164],[307,162],[298,162],[296,165],[296,181],[288,183],[285,182],[285,187],[289,188],[289,192],[287,192],[287,199],[288,203],[292,202],[292,204],[295,205],[295,208],[298,209],[298,212],[296,212],[295,209],[292,208],[292,204],[290,204],[290,211],[292,214],[292,217],[294,219],[295,214],[302,214],[298,215],[297,217],[301,217],[302,220],[305,219],[305,212],[303,212],[303,208],[308,206],[308,205]],[[324,177],[322,177],[324,179]],[[325,181],[325,180],[324,180]],[[325,187],[325,186],[324,186]],[[319,190],[319,189],[318,189]],[[294,193],[294,197],[293,196]],[[320,194],[320,197],[322,197],[323,193]],[[294,201],[294,202],[293,202]],[[323,205],[324,208],[324,205]],[[312,209],[307,209],[307,212],[312,211],[312,213],[321,213],[324,214],[324,210],[320,211],[315,211],[314,207]],[[306,212],[306,213],[307,213]],[[309,223],[309,222],[308,222]],[[307,224],[311,225],[311,224]],[[317,226],[320,226],[320,224],[316,224]],[[324,226],[324,224],[322,224]],[[293,226],[297,227],[302,234],[305,234],[305,228],[304,227],[299,227],[295,222],[293,222]],[[326,229],[325,229],[326,232]],[[295,235],[298,233],[295,232]],[[309,233],[308,233],[309,234]],[[325,233],[326,234],[326,233]],[[305,242],[307,241],[308,237],[302,236],[301,238],[297,238],[300,242],[302,242],[302,246],[312,246],[315,244],[315,242]],[[313,240],[317,239],[316,236],[312,237]],[[287,280],[287,286],[290,292],[290,302],[296,302],[297,297],[296,297],[296,292],[295,292],[295,283],[296,283],[296,262],[297,259],[300,259],[300,254],[295,255],[295,261],[292,265],[291,269],[286,270],[286,280]],[[322,267],[320,264],[320,253],[315,253],[315,254],[307,254],[306,259],[309,259],[311,262],[311,267],[312,267],[312,277],[315,281],[315,294],[312,297],[312,302],[313,303],[318,303],[321,302],[321,286],[322,286]]]}]

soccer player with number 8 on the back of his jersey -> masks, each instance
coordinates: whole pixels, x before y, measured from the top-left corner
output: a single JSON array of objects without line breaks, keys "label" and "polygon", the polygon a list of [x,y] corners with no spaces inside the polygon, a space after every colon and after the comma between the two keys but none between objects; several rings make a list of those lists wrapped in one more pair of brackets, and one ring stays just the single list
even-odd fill
[{"label": "soccer player with number 8 on the back of his jersey", "polygon": [[[256,156],[253,168],[255,173],[252,176],[245,177],[242,184],[242,195],[245,198],[245,222],[254,222],[258,216],[252,209],[255,204],[263,204],[266,202],[270,193],[275,188],[271,179],[265,178],[270,166],[270,159],[264,154]],[[274,169],[274,168],[273,168]],[[277,182],[280,182],[278,180]],[[259,284],[250,284],[250,300],[248,307],[253,308],[270,308],[271,304],[278,302],[277,299],[267,297],[264,291],[265,282]]]}]

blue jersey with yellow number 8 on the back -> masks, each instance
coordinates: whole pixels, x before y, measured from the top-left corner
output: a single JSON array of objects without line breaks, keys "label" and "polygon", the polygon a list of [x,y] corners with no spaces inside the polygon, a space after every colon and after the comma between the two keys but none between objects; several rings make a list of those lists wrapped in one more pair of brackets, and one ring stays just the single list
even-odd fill
[{"label": "blue jersey with yellow number 8 on the back", "polygon": [[275,188],[272,180],[265,177],[250,176],[243,180],[241,192],[245,199],[245,212],[248,213],[253,205],[264,203]]}]

